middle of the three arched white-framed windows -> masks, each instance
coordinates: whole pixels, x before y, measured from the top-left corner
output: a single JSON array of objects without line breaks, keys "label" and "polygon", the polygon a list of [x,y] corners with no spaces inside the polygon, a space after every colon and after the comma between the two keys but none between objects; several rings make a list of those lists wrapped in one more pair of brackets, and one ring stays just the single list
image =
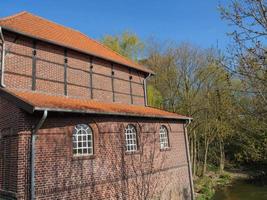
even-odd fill
[{"label": "middle of the three arched white-framed windows", "polygon": [[129,124],[125,128],[126,152],[137,151],[137,132],[134,125]]}]

